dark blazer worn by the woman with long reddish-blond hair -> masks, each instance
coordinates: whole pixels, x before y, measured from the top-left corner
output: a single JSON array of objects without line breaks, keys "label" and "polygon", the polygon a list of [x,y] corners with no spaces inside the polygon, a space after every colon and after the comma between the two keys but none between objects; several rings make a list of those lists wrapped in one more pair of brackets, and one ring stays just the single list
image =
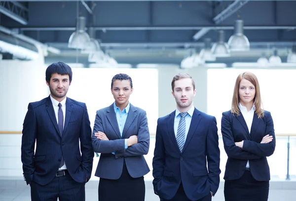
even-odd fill
[{"label": "dark blazer worn by the woman with long reddish-blond hair", "polygon": [[[240,178],[247,161],[250,171],[257,181],[269,181],[270,172],[266,157],[273,154],[275,149],[275,135],[270,112],[264,111],[264,117],[258,118],[254,114],[251,133],[242,114],[234,115],[231,111],[222,113],[221,123],[224,149],[228,156],[225,167],[225,180]],[[272,135],[270,143],[260,143],[265,135]],[[237,147],[235,142],[244,140],[243,148]]]}]

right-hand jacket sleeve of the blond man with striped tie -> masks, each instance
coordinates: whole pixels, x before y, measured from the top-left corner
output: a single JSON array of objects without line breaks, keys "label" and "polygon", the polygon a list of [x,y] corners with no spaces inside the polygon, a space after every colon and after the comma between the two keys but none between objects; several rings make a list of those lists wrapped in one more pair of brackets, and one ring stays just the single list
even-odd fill
[{"label": "right-hand jacket sleeve of the blond man with striped tie", "polygon": [[211,184],[211,192],[215,195],[220,184],[220,149],[216,118],[213,117],[207,133],[208,181]]}]

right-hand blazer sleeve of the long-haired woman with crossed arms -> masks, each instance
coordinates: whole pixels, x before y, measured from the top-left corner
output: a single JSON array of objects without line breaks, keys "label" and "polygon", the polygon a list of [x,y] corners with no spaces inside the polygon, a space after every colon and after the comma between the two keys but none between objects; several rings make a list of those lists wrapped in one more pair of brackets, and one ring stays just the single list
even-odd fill
[{"label": "right-hand blazer sleeve of the long-haired woman with crossed arms", "polygon": [[272,141],[270,143],[257,143],[250,140],[244,140],[242,150],[250,152],[252,154],[256,154],[260,157],[269,157],[273,154],[275,150],[275,134],[273,128],[273,121],[270,113],[265,114],[266,118],[266,129],[265,135],[272,136]]}]

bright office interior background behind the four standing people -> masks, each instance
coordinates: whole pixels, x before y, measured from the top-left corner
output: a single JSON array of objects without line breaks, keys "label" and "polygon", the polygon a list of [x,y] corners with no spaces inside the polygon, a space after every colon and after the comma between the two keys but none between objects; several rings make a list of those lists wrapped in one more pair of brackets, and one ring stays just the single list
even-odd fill
[{"label": "bright office interior background behind the four standing people", "polygon": [[[230,110],[238,74],[255,73],[277,140],[268,157],[271,194],[285,200],[296,192],[295,0],[0,1],[1,200],[30,198],[20,161],[22,124],[29,102],[49,95],[45,70],[57,61],[72,67],[67,96],[86,103],[91,127],[96,111],[113,102],[112,77],[133,79],[130,102],[147,111],[151,134],[149,194],[156,121],[176,109],[173,77],[190,74],[194,106],[217,119],[223,182],[222,112]],[[97,188],[99,178],[91,180]],[[20,198],[9,189],[15,186],[25,189]],[[222,201],[222,188],[213,200]]]}]

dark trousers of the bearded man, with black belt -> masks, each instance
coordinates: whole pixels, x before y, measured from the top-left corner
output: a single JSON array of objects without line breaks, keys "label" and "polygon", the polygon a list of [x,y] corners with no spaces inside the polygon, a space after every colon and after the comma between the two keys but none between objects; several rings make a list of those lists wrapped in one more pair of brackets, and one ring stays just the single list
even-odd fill
[{"label": "dark trousers of the bearded man, with black belt", "polygon": [[41,186],[32,181],[31,201],[85,201],[85,183],[78,183],[66,171],[65,176],[55,177]]}]

